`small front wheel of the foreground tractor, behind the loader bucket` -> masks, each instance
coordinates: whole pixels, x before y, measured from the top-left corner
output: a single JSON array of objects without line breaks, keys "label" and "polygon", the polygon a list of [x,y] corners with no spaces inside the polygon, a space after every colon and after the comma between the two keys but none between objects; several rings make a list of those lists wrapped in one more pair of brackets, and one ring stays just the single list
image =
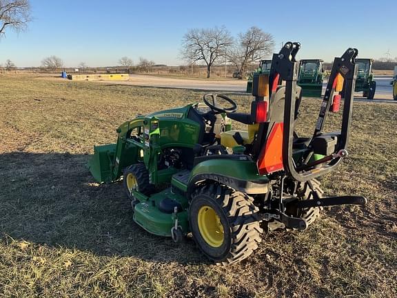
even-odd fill
[{"label": "small front wheel of the foreground tractor, behind the loader bucket", "polygon": [[128,199],[135,201],[133,190],[141,192],[143,195],[150,195],[153,185],[149,181],[149,172],[143,163],[135,163],[128,166],[123,172],[123,187]]}]

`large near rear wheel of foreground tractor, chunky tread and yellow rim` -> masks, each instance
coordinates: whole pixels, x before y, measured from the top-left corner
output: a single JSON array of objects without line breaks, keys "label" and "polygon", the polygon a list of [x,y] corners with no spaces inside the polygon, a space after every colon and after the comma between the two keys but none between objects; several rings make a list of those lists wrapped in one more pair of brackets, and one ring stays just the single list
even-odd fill
[{"label": "large near rear wheel of foreground tractor, chunky tread and yellow rim", "polygon": [[227,186],[207,184],[192,194],[190,230],[216,264],[234,264],[252,254],[263,232],[254,199]]}]

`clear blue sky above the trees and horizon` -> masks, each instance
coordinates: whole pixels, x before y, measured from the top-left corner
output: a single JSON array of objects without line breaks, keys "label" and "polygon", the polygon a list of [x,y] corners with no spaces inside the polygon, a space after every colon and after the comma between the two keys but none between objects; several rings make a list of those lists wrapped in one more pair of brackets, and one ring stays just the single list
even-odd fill
[{"label": "clear blue sky above the trees and horizon", "polygon": [[181,38],[191,28],[225,26],[236,36],[251,26],[283,41],[300,41],[299,58],[332,61],[348,47],[360,57],[397,57],[396,1],[127,1],[31,0],[26,32],[0,40],[0,63],[39,66],[61,57],[65,66],[115,66],[128,56],[180,65]]}]

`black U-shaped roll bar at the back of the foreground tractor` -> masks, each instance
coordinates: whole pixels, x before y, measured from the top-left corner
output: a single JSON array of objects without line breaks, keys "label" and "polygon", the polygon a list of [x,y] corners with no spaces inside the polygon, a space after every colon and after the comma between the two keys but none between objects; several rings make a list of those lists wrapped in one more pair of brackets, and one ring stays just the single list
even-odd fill
[{"label": "black U-shaped roll bar at the back of the foreground tractor", "polygon": [[[278,54],[273,55],[272,68],[269,73],[269,93],[276,91],[276,87],[281,81],[285,81],[285,103],[283,118],[283,167],[287,176],[296,181],[308,181],[327,172],[334,170],[340,161],[347,156],[347,143],[349,140],[349,129],[352,118],[352,103],[354,99],[354,87],[356,83],[357,68],[354,59],[357,57],[358,50],[348,48],[342,57],[336,57],[332,66],[332,71],[327,83],[327,89],[323,102],[321,103],[320,113],[316,122],[313,137],[321,135],[323,132],[327,113],[338,95],[336,91],[337,81],[343,78],[345,83],[345,103],[343,108],[343,119],[338,141],[334,154],[324,157],[316,164],[327,163],[321,168],[311,169],[314,164],[303,164],[297,169],[292,158],[292,145],[294,141],[294,122],[296,119],[296,81],[298,79],[298,62],[296,53],[301,48],[300,43],[287,42]],[[340,90],[339,90],[340,91]],[[334,93],[336,92],[336,95]],[[270,103],[271,105],[272,103]]]}]

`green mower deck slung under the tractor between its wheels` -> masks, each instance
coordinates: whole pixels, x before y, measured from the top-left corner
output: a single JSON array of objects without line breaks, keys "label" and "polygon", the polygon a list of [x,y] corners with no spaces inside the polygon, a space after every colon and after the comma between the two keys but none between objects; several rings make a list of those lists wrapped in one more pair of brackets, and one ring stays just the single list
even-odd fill
[{"label": "green mower deck slung under the tractor between its wheels", "polygon": [[177,201],[181,204],[183,210],[179,210],[177,213],[177,225],[181,226],[184,232],[189,232],[189,221],[187,220],[187,198],[183,195],[174,194],[170,188],[158,192],[147,198],[145,201],[136,204],[134,208],[134,221],[139,224],[147,232],[151,232],[154,235],[170,237],[171,228],[175,224],[174,212],[163,212],[161,210],[161,201],[163,199],[170,199]]}]

